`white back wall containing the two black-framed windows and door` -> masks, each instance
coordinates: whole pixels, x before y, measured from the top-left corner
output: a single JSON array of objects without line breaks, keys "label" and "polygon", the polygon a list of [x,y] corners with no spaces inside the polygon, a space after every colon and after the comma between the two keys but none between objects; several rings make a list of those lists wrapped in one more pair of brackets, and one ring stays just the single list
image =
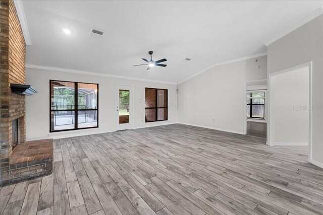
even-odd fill
[{"label": "white back wall containing the two black-framed windows and door", "polygon": [[[49,134],[49,80],[99,84],[99,127]],[[115,84],[134,86],[134,128],[177,122],[176,85],[26,69],[26,83],[38,93],[26,96],[26,139],[56,138],[115,130]],[[168,121],[145,122],[145,87],[168,89]],[[142,102],[139,102],[142,99]]]}]

